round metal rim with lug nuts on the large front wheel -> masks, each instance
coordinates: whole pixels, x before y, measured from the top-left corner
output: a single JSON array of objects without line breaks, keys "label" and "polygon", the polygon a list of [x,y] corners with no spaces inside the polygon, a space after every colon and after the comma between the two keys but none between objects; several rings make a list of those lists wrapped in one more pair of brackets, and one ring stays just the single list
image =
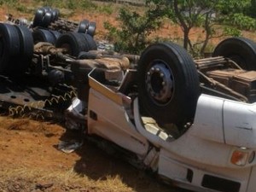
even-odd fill
[{"label": "round metal rim with lug nuts on the large front wheel", "polygon": [[153,61],[146,74],[148,96],[158,105],[172,101],[174,93],[172,69],[164,61]]}]

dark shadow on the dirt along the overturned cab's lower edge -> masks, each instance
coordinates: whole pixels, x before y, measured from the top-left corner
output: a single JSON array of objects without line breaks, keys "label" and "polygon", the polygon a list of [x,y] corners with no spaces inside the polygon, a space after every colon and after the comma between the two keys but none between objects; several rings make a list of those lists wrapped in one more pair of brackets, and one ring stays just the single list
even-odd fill
[{"label": "dark shadow on the dirt along the overturned cab's lower edge", "polygon": [[125,160],[113,154],[108,154],[105,150],[96,146],[95,143],[88,141],[81,134],[81,131],[67,130],[62,135],[61,141],[68,141],[73,138],[84,141],[83,146],[75,151],[81,159],[75,163],[74,171],[80,175],[90,177],[96,181],[119,176],[123,183],[137,192],[189,192],[162,183],[153,173],[138,170]]}]

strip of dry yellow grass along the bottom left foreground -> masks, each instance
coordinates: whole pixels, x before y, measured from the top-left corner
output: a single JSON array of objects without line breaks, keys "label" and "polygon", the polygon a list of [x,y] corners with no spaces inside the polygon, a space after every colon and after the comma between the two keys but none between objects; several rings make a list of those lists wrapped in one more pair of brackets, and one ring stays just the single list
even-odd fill
[{"label": "strip of dry yellow grass along the bottom left foreground", "polygon": [[28,167],[12,167],[0,169],[0,191],[32,191],[32,189],[44,188],[44,191],[97,191],[97,192],[129,192],[129,188],[117,176],[106,176],[104,180],[92,180],[86,176],[69,170],[56,172],[32,169]]}]

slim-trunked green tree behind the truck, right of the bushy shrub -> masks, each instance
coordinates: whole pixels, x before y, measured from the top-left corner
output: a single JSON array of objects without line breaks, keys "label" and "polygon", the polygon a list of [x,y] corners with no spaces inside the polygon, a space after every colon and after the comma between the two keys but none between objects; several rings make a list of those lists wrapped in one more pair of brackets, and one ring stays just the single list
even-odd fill
[{"label": "slim-trunked green tree behind the truck, right of the bushy shrub", "polygon": [[[183,30],[183,47],[195,52],[195,46],[202,44],[203,53],[210,38],[216,38],[216,24],[225,26],[240,26],[240,28],[255,28],[255,21],[245,15],[245,9],[250,6],[250,0],[147,0],[164,11],[166,16],[177,23]],[[193,44],[189,38],[190,30],[195,26],[204,27],[205,38],[202,42]],[[225,27],[224,32],[238,35],[234,28]],[[224,35],[221,34],[221,35]]]}]

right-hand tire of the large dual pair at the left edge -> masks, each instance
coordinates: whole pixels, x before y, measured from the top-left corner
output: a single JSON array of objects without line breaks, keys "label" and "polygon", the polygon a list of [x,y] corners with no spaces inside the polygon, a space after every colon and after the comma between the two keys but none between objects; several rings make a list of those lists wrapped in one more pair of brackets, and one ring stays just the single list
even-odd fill
[{"label": "right-hand tire of the large dual pair at the left edge", "polygon": [[20,36],[20,72],[26,72],[34,50],[32,32],[26,26],[15,26]]}]

